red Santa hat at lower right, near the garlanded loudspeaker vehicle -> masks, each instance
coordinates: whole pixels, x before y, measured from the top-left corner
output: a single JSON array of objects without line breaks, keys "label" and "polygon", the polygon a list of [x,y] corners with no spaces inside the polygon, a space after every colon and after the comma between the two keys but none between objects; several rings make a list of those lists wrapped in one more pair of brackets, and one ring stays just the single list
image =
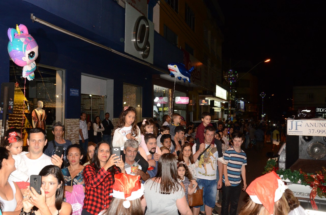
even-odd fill
[{"label": "red Santa hat at lower right, near the garlanded loudspeaker vehicle", "polygon": [[262,204],[269,214],[273,214],[274,204],[282,197],[284,191],[284,182],[274,171],[256,178],[246,189],[251,200]]}]

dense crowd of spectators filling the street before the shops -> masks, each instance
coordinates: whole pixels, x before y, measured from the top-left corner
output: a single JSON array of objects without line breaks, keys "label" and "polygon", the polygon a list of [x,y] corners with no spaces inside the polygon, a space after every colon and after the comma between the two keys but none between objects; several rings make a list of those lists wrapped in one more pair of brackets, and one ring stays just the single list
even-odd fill
[{"label": "dense crowd of spectators filling the street before the shops", "polygon": [[[102,122],[96,116],[92,123],[86,122],[86,114],[81,113],[79,144],[63,138],[65,126],[61,122],[52,126],[52,141],[47,140],[43,129],[31,129],[26,152],[22,151],[20,130],[7,130],[0,148],[2,213],[211,215],[217,214],[213,211],[217,206],[222,215],[235,215],[240,193],[246,189],[252,201],[248,201],[241,214],[267,214],[264,210],[273,214],[273,209],[274,214],[290,211],[291,207],[283,201],[283,192],[271,203],[260,198],[267,194],[255,189],[264,185],[254,186],[254,181],[247,188],[247,159],[241,145],[246,144],[244,134],[250,137],[255,128],[253,123],[230,126],[220,122],[215,128],[211,114],[203,112],[202,122],[195,128],[191,122],[185,128],[177,113],[163,116],[160,128],[151,118],[138,126],[135,108],[125,107],[113,127],[109,116],[106,113]],[[258,130],[254,132],[256,145],[261,141]],[[61,157],[57,154],[59,146],[63,148]],[[35,182],[32,175],[41,176],[40,193],[30,186]],[[276,174],[273,177],[277,185],[279,178]],[[271,193],[274,188],[266,186]],[[191,207],[189,198],[198,190],[203,191],[202,204],[195,202]]]}]

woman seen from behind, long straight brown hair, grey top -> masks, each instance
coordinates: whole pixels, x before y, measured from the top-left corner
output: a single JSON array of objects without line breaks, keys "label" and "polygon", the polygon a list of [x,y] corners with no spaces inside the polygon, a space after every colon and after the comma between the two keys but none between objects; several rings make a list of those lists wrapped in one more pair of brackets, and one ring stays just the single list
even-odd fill
[{"label": "woman seen from behind, long straight brown hair, grey top", "polygon": [[161,155],[156,176],[144,184],[144,197],[141,205],[143,210],[147,206],[145,215],[178,215],[178,210],[181,215],[192,214],[178,183],[177,160],[173,154]]}]

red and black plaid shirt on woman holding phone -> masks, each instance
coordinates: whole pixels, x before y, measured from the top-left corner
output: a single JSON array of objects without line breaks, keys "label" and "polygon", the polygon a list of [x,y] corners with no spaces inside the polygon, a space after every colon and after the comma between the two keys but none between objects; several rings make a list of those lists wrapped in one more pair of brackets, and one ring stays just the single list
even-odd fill
[{"label": "red and black plaid shirt on woman holding phone", "polygon": [[[115,174],[120,173],[117,167],[113,167]],[[109,208],[112,196],[113,177],[108,171],[101,168],[97,173],[93,165],[84,168],[85,199],[83,209],[97,215],[102,210]]]}]

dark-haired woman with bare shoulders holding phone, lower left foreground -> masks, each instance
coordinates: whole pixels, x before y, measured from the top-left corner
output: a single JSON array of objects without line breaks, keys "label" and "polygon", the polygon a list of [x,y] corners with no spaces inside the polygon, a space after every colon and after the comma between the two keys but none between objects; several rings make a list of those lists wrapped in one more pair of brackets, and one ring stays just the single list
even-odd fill
[{"label": "dark-haired woman with bare shoulders holding phone, lower left foreground", "polygon": [[54,165],[45,166],[39,173],[42,176],[41,195],[33,187],[23,196],[21,214],[30,215],[70,215],[71,205],[63,202],[64,179],[61,169]]}]

